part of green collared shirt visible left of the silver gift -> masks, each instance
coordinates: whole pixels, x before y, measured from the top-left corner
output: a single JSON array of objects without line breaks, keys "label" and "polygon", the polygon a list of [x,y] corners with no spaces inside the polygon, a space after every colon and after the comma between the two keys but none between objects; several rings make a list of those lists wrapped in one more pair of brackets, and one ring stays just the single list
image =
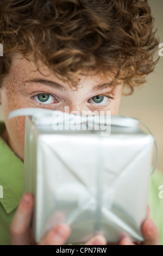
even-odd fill
[{"label": "part of green collared shirt visible left of the silver gift", "polygon": [[[0,122],[0,133],[5,129]],[[0,245],[10,245],[10,223],[23,194],[23,162],[0,136]]]}]

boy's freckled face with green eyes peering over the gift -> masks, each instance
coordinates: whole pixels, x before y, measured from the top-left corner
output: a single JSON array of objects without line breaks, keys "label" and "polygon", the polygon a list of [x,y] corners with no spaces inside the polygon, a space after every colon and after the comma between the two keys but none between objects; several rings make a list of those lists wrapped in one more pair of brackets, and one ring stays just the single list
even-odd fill
[{"label": "boy's freckled face with green eyes peering over the gift", "polygon": [[[18,55],[17,55],[18,56]],[[8,120],[9,112],[20,108],[43,108],[64,111],[108,111],[112,115],[118,112],[123,84],[100,87],[112,79],[101,76],[79,75],[77,91],[59,80],[54,73],[41,64],[36,71],[34,62],[26,58],[13,58],[9,75],[3,80],[0,90],[4,122],[8,130],[8,143],[18,157],[23,159],[25,117]],[[98,97],[99,96],[99,97]]]}]

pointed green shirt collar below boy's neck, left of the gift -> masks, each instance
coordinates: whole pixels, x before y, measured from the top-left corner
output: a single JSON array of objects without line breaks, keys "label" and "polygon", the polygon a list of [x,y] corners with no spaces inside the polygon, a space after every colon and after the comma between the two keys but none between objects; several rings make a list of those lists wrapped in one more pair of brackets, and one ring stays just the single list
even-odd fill
[{"label": "pointed green shirt collar below boy's neck, left of the gift", "polygon": [[[0,127],[4,123],[0,123]],[[1,129],[2,130],[2,129]],[[20,203],[23,194],[23,162],[0,136],[0,185],[3,198],[0,202],[5,211],[10,213]]]}]

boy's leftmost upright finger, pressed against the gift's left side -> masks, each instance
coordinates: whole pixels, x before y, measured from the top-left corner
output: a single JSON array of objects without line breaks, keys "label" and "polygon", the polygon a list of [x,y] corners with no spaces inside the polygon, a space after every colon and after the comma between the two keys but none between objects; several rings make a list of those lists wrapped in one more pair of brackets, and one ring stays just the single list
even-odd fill
[{"label": "boy's leftmost upright finger, pressed against the gift's left side", "polygon": [[10,226],[12,245],[29,245],[29,227],[33,212],[33,195],[24,194]]}]

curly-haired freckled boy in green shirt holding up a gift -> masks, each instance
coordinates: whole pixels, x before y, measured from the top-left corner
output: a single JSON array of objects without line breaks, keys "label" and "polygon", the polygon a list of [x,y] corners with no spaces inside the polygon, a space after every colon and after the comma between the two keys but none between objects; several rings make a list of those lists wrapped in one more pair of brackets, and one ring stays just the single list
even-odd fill
[{"label": "curly-haired freckled boy in green shirt holding up a gift", "polygon": [[[147,1],[3,0],[0,15],[4,47],[0,97],[5,123],[1,124],[0,145],[4,188],[0,239],[3,245],[28,245],[35,243],[29,229],[32,195],[23,195],[17,207],[23,191],[25,120],[8,120],[9,112],[19,108],[64,111],[69,106],[70,112],[111,110],[116,115],[123,87],[133,92],[153,71],[151,52],[158,41]],[[154,175],[149,203],[158,212],[161,208],[156,204],[154,209],[153,202],[158,200],[156,186],[162,177],[157,172]],[[161,212],[155,221],[161,228]],[[159,230],[149,212],[142,231],[142,245],[159,244]],[[61,245],[70,232],[67,225],[58,225],[41,244]],[[86,243],[105,244],[103,236]],[[133,241],[125,237],[118,244],[132,245]]]}]

